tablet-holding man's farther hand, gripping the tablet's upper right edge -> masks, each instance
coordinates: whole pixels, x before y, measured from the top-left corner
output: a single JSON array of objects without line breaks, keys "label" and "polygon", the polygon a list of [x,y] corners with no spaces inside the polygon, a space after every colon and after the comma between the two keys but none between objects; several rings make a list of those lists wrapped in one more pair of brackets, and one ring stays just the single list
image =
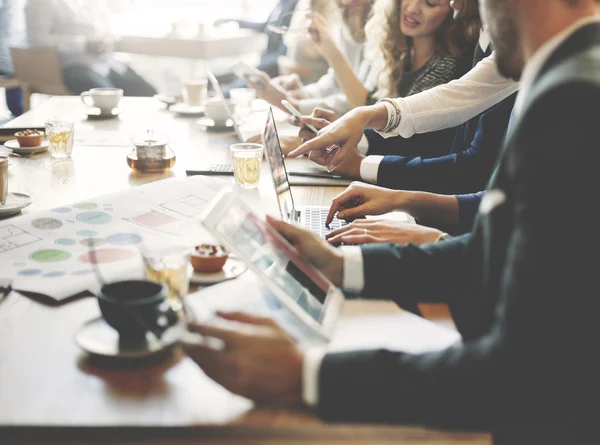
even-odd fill
[{"label": "tablet-holding man's farther hand, gripping the tablet's upper right edge", "polygon": [[270,216],[267,216],[267,222],[335,286],[342,286],[344,258],[337,249],[304,228]]}]

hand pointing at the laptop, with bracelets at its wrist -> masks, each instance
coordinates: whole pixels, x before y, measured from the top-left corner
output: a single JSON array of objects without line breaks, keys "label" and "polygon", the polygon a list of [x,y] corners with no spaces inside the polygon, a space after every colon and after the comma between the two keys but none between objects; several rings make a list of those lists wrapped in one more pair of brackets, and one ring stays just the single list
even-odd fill
[{"label": "hand pointing at the laptop, with bracelets at its wrist", "polygon": [[[337,146],[339,150],[335,150],[335,155],[330,156],[327,160],[327,169],[329,171],[336,170],[347,156],[356,152],[364,129],[367,128],[376,111],[374,107],[358,107],[349,111],[335,122],[319,130],[317,137],[303,143],[289,156],[298,157],[312,151],[321,153],[328,150],[331,152],[333,151],[332,147]],[[385,108],[383,111],[387,116]]]}]

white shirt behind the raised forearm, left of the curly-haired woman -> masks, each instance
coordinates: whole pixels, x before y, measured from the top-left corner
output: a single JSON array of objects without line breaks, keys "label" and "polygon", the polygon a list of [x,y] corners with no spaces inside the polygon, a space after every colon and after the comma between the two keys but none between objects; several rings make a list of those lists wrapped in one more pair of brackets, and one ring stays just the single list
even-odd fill
[{"label": "white shirt behind the raised forearm, left of the curly-haired woman", "polygon": [[[348,58],[354,74],[361,82],[366,83],[369,75],[369,63],[364,60],[364,44],[356,43],[346,26],[340,26],[338,44],[342,52]],[[342,92],[335,79],[335,71],[329,68],[327,74],[317,82],[306,85],[303,89],[310,98],[298,101],[298,110],[309,115],[317,108],[325,108],[334,111],[341,116],[350,111],[350,105],[346,95]]]}]

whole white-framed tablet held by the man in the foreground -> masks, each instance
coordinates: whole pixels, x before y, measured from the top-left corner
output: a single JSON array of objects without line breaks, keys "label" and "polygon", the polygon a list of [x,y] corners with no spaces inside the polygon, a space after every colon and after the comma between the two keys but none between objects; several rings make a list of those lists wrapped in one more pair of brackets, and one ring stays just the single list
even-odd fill
[{"label": "whole white-framed tablet held by the man in the foreground", "polygon": [[331,339],[344,294],[238,194],[221,192],[204,215],[203,224],[257,274],[282,305],[319,337]]}]

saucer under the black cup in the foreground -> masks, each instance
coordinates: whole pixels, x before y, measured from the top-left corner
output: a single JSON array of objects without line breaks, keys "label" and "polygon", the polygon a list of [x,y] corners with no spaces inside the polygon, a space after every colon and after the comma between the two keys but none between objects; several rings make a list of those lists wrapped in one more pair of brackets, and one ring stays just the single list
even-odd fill
[{"label": "saucer under the black cup in the foreground", "polygon": [[167,329],[160,340],[148,336],[144,346],[133,346],[121,349],[119,333],[104,321],[102,317],[86,322],[77,334],[75,341],[84,351],[92,355],[116,358],[144,358],[176,344],[185,332],[185,323],[179,322]]}]

